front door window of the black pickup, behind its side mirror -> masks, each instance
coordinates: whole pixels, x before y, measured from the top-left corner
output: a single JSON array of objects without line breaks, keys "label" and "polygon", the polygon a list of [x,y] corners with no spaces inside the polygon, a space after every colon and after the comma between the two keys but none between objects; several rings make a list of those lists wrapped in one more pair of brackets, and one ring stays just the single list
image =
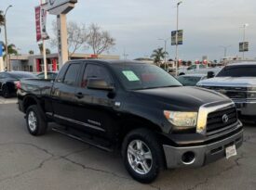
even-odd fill
[{"label": "front door window of the black pickup, behind its side mirror", "polygon": [[108,70],[99,65],[88,64],[86,67],[81,87],[86,88],[88,85],[88,79],[102,79],[108,84],[113,84],[113,80]]}]

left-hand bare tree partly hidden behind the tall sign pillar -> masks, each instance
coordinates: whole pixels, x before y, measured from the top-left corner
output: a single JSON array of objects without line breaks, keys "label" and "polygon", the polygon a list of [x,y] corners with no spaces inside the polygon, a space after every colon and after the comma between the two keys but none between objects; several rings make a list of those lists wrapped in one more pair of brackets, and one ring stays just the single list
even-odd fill
[{"label": "left-hand bare tree partly hidden behind the tall sign pillar", "polygon": [[[56,21],[52,22],[52,30],[55,33],[55,36],[50,39],[50,44],[53,47],[58,47],[58,37],[57,37],[57,23]],[[85,24],[78,25],[74,21],[70,21],[67,26],[68,32],[68,48],[69,48],[69,57],[72,57],[74,53],[85,46],[87,43],[87,30]]]}]

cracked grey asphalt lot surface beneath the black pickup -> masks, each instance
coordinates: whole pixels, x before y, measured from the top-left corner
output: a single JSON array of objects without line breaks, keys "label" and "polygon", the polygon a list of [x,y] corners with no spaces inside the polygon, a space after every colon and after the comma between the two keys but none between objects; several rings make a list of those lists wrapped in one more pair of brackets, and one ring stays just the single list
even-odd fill
[{"label": "cracked grey asphalt lot surface beneath the black pickup", "polygon": [[27,133],[15,99],[0,98],[0,189],[256,189],[256,125],[245,126],[235,158],[199,169],[164,171],[153,184],[139,184],[120,156],[60,133]]}]

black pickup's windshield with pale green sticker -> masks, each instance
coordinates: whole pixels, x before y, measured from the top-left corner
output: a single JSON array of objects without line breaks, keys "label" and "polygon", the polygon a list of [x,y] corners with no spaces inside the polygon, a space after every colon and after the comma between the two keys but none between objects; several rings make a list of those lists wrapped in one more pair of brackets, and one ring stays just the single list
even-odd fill
[{"label": "black pickup's windshield with pale green sticker", "polygon": [[120,82],[128,90],[182,86],[161,68],[148,64],[123,64],[113,67]]}]

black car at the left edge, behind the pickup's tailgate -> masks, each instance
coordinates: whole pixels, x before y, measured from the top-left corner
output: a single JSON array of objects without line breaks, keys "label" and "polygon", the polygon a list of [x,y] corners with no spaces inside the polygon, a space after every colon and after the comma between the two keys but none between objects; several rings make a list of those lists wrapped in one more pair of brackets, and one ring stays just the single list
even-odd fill
[{"label": "black car at the left edge, behind the pickup's tailgate", "polygon": [[16,95],[17,84],[21,79],[36,78],[33,73],[23,71],[0,72],[0,95],[5,98]]}]

